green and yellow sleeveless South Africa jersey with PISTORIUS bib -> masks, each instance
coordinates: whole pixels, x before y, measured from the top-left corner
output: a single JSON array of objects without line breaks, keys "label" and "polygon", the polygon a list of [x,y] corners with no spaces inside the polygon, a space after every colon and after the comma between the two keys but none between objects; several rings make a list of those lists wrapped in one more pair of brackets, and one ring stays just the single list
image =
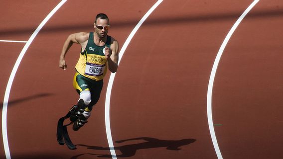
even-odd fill
[{"label": "green and yellow sleeveless South Africa jersey with PISTORIUS bib", "polygon": [[105,58],[105,47],[110,48],[111,36],[107,36],[104,46],[97,46],[93,40],[93,32],[89,33],[87,46],[80,54],[76,65],[76,71],[84,77],[93,80],[102,80],[107,72],[107,60]]}]

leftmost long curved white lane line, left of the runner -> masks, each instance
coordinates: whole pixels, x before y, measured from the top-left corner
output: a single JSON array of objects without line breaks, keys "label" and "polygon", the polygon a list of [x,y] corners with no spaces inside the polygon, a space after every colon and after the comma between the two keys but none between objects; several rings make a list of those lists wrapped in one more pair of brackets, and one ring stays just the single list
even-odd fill
[{"label": "leftmost long curved white lane line, left of the runner", "polygon": [[4,145],[4,151],[6,159],[11,159],[10,156],[10,150],[9,150],[9,144],[8,144],[8,135],[7,135],[7,107],[8,107],[8,100],[10,95],[10,90],[12,87],[12,82],[14,80],[15,74],[17,72],[17,69],[19,67],[19,64],[28,49],[29,45],[35,38],[35,36],[38,34],[38,32],[41,30],[41,28],[45,25],[45,23],[51,18],[51,16],[66,2],[67,0],[62,0],[60,3],[57,4],[57,6],[44,18],[44,20],[39,24],[39,26],[36,28],[36,30],[33,32],[33,34],[30,36],[26,44],[24,45],[23,49],[21,50],[17,61],[13,67],[13,70],[10,74],[10,78],[8,80],[6,91],[4,95],[3,100],[3,107],[2,107],[2,137],[3,137],[3,145]]}]

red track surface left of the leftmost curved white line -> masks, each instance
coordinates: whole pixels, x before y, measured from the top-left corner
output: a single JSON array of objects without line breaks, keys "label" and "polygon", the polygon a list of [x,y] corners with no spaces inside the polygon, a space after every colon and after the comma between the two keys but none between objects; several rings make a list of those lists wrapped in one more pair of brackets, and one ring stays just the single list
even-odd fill
[{"label": "red track surface left of the leftmost curved white line", "polygon": [[[0,25],[0,40],[27,40],[28,37],[32,34],[33,30],[37,27],[37,24],[40,23],[40,20],[42,20],[40,18],[45,16],[44,11],[48,10],[46,6],[50,5],[51,2],[52,1],[41,2],[39,4],[38,1],[34,0],[34,5],[27,4],[23,1],[18,1],[16,3],[12,1],[2,2],[0,5],[0,10],[5,16],[0,17],[0,20],[2,22],[2,25]],[[43,12],[39,11],[38,7],[40,6],[45,6],[45,8],[42,8],[40,10]],[[32,10],[32,12],[30,12],[30,10]],[[37,16],[34,16],[34,14],[37,14]],[[2,50],[3,55],[1,58],[1,105],[3,105],[4,91],[6,89],[6,84],[11,73],[13,64],[15,63],[17,56],[23,48],[24,44],[25,43],[13,43],[3,41],[0,42],[0,49]],[[13,102],[17,102],[17,100],[10,101],[10,103]],[[0,158],[4,159],[5,153],[2,142],[3,140],[1,139]]]}]

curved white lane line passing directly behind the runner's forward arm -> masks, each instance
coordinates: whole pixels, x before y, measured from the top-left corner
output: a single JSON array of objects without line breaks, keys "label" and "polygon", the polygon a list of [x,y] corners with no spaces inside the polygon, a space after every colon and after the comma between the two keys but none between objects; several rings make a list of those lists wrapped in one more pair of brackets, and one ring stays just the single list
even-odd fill
[{"label": "curved white lane line passing directly behind the runner's forward arm", "polygon": [[[131,32],[129,37],[127,38],[126,42],[124,43],[120,53],[119,53],[119,62],[118,66],[120,64],[120,61],[124,55],[124,52],[126,51],[128,45],[130,44],[132,38],[138,31],[138,29],[141,27],[141,24],[146,20],[146,18],[152,13],[152,11],[162,2],[163,0],[158,0],[152,7],[144,14],[144,16],[141,18],[140,22],[136,25],[134,30]],[[114,82],[116,73],[110,75],[110,79],[108,82],[107,86],[107,91],[106,91],[106,99],[105,99],[105,126],[106,126],[106,135],[107,135],[107,140],[108,140],[108,145],[110,148],[110,152],[112,155],[112,159],[117,159],[114,145],[113,145],[113,140],[112,140],[112,135],[111,135],[111,129],[110,129],[110,98],[111,98],[111,90],[112,90],[112,85]]]}]

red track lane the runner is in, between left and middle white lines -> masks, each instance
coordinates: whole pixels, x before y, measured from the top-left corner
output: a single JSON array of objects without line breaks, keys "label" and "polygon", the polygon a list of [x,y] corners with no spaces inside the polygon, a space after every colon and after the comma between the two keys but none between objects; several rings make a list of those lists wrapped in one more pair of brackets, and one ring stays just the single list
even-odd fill
[{"label": "red track lane the runner is in, between left and middle white lines", "polygon": [[[91,4],[93,1],[86,2]],[[90,119],[92,121],[89,123],[92,124],[88,123],[88,126],[79,132],[70,131],[74,143],[80,144],[77,146],[78,150],[69,151],[66,147],[57,144],[55,139],[56,122],[77,101],[77,94],[72,88],[74,73],[72,66],[77,61],[80,48],[73,46],[72,51],[68,53],[67,64],[69,68],[67,71],[58,68],[58,57],[63,42],[70,33],[93,30],[94,16],[99,12],[105,12],[111,20],[113,19],[111,21],[113,31],[110,30],[109,34],[119,40],[122,45],[124,39],[127,38],[153,1],[148,0],[147,3],[136,1],[136,3],[140,4],[130,8],[129,5],[133,5],[132,1],[124,1],[123,7],[114,11],[113,8],[121,5],[118,0],[105,3],[104,6],[96,10],[93,9],[95,5],[93,3],[93,6],[86,6],[85,3],[67,1],[42,29],[28,49],[11,90],[11,94],[13,94],[11,100],[18,99],[18,102],[13,103],[8,110],[10,117],[8,118],[8,126],[10,126],[8,132],[11,133],[9,134],[9,143],[12,147],[12,158],[91,159],[95,154],[109,153],[109,150],[94,152],[95,150],[86,149],[87,146],[107,147],[108,145],[105,134],[104,105],[101,104],[104,103],[105,90],[103,90],[100,103],[97,104],[93,117]],[[82,19],[81,15],[71,14],[76,8],[91,10],[93,16],[86,16]],[[89,27],[85,24],[89,24]],[[72,25],[75,27],[71,27]],[[54,42],[54,38],[60,42]],[[107,78],[105,83],[107,83]],[[51,101],[56,101],[56,104]],[[31,112],[33,115],[30,115]],[[24,129],[27,125],[29,129]],[[89,138],[86,137],[88,135]]]}]

